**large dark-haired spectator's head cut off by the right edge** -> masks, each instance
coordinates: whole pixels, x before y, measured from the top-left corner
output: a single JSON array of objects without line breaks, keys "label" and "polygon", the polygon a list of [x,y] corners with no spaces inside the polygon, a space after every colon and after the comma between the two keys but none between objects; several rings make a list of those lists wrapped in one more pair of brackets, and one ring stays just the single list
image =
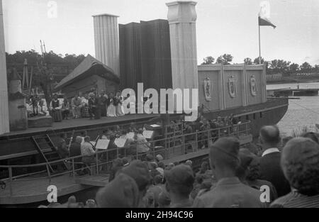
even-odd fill
[{"label": "large dark-haired spectator's head cut off by the right edge", "polygon": [[299,193],[319,194],[319,145],[309,138],[293,138],[281,154],[286,179]]}]

